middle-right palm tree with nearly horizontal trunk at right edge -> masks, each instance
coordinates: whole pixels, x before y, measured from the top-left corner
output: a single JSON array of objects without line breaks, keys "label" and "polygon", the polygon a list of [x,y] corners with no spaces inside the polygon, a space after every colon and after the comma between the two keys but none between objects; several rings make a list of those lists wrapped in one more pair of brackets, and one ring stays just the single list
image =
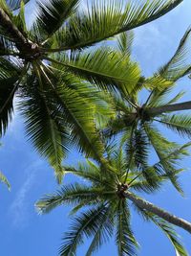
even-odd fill
[{"label": "middle-right palm tree with nearly horizontal trunk at right edge", "polygon": [[[109,61],[108,59],[113,61],[115,56],[116,62],[123,63],[121,72],[128,73],[130,67],[134,72],[137,71],[129,83],[124,81],[117,83],[115,91],[111,92],[117,115],[102,131],[103,137],[106,136],[109,139],[122,137],[121,141],[126,146],[129,158],[129,168],[131,164],[136,164],[139,170],[147,168],[150,148],[155,150],[161,160],[176,147],[176,143],[169,142],[161,134],[159,125],[170,128],[184,137],[191,137],[190,114],[171,114],[174,110],[187,109],[187,103],[174,104],[180,100],[183,93],[180,92],[172,97],[171,92],[176,82],[191,71],[191,65],[186,64],[185,55],[190,33],[189,29],[183,35],[173,58],[148,79],[141,76],[138,63],[131,59],[134,38],[132,32],[117,37],[117,48],[102,47],[102,51],[108,53],[106,61]],[[148,88],[148,96],[145,88]],[[144,97],[141,97],[142,94]],[[144,102],[141,103],[143,100]],[[178,105],[181,105],[181,109],[176,108]],[[162,160],[162,165],[166,173],[173,170],[173,163]],[[176,184],[175,180],[172,182]]]}]

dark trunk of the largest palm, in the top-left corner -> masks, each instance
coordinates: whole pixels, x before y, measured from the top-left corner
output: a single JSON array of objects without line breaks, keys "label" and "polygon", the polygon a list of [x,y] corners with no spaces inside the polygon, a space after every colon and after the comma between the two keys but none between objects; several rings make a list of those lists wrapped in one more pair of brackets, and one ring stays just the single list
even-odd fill
[{"label": "dark trunk of the largest palm, in the top-left corner", "polygon": [[11,39],[15,42],[19,51],[23,51],[28,44],[28,39],[18,30],[13,24],[9,15],[0,8],[0,25],[4,31],[10,35]]}]

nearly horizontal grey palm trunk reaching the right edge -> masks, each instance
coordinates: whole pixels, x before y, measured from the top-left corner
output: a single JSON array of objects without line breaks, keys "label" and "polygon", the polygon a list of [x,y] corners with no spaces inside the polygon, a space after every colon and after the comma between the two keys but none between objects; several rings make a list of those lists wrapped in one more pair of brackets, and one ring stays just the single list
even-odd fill
[{"label": "nearly horizontal grey palm trunk reaching the right edge", "polygon": [[153,107],[148,109],[148,113],[151,115],[159,115],[165,112],[182,111],[187,109],[191,109],[191,102]]}]

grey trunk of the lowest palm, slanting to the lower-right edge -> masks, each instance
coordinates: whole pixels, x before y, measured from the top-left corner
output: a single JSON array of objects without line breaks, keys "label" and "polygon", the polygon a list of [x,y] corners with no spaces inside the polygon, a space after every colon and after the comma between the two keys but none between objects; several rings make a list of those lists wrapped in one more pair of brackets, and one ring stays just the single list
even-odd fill
[{"label": "grey trunk of the lowest palm, slanting to the lower-right edge", "polygon": [[189,233],[191,233],[191,222],[180,219],[180,218],[176,217],[175,215],[172,215],[172,214],[160,209],[159,207],[155,206],[153,203],[143,200],[142,198],[138,198],[137,196],[135,196],[134,194],[132,194],[129,191],[126,191],[124,193],[124,197],[133,201],[139,208],[145,209],[148,212],[159,216],[159,218],[161,218],[165,221],[168,221],[174,225],[180,226],[181,228],[183,228],[186,231],[188,231]]}]

